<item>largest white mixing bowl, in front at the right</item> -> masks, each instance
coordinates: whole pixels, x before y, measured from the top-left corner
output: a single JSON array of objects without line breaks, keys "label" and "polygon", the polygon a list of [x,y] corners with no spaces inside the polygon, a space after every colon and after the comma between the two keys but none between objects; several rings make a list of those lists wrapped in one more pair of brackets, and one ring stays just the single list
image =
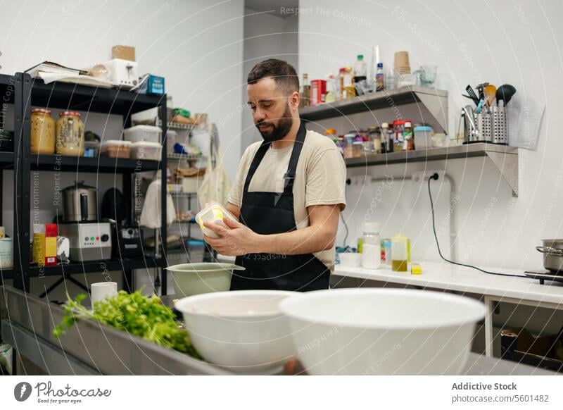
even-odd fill
[{"label": "largest white mixing bowl, in front at the right", "polygon": [[313,375],[455,375],[485,306],[404,289],[339,289],[281,302],[298,359]]}]

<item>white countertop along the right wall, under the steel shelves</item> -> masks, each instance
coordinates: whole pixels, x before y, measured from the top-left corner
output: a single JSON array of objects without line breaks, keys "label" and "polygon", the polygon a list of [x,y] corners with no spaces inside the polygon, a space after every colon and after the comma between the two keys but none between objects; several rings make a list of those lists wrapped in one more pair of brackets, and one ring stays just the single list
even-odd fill
[{"label": "white countertop along the right wall, under the steel shelves", "polygon": [[447,262],[424,262],[422,275],[411,275],[410,265],[407,272],[393,272],[390,266],[369,270],[363,268],[344,268],[336,265],[334,275],[349,278],[378,280],[441,290],[485,294],[499,298],[514,298],[533,302],[561,304],[563,309],[563,283],[526,278],[524,271],[483,268],[486,271],[520,275],[521,278],[490,275],[472,268],[455,266]]}]

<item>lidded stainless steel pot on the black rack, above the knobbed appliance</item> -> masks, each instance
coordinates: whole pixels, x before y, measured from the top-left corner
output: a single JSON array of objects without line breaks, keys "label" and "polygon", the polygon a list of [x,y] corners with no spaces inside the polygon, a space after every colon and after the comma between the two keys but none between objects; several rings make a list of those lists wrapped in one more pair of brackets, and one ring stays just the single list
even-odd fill
[{"label": "lidded stainless steel pot on the black rack, above the knobbed appliance", "polygon": [[77,182],[63,190],[65,222],[97,222],[98,196],[94,187]]}]

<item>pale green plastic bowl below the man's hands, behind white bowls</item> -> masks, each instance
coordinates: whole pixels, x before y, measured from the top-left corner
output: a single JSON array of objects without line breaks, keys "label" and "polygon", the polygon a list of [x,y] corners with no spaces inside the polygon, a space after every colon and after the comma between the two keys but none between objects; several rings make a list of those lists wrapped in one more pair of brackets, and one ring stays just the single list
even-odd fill
[{"label": "pale green plastic bowl below the man's hands, behind white bowls", "polygon": [[176,296],[186,297],[209,292],[224,292],[231,287],[231,273],[243,271],[234,263],[182,263],[168,266],[172,272]]}]

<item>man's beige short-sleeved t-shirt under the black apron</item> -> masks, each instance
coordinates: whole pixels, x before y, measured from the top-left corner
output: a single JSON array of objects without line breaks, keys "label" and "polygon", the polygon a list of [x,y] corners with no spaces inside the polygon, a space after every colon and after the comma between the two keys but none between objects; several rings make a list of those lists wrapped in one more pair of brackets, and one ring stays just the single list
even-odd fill
[{"label": "man's beige short-sleeved t-shirt under the black apron", "polygon": [[[251,144],[241,158],[236,180],[227,199],[235,206],[241,206],[248,168],[261,143]],[[284,175],[292,149],[293,144],[283,149],[270,146],[254,173],[248,192],[284,192]],[[308,130],[293,182],[293,213],[297,228],[303,229],[310,225],[308,206],[340,204],[342,211],[346,206],[345,186],[346,165],[340,151],[328,137]],[[331,271],[334,270],[334,248],[316,252],[315,256]]]}]

